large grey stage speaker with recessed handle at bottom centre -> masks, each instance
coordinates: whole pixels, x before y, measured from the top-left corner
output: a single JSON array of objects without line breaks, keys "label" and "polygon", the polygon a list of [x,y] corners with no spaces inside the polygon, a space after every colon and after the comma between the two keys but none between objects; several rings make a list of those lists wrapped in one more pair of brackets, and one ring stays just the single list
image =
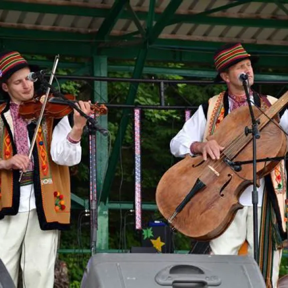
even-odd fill
[{"label": "large grey stage speaker with recessed handle at bottom centre", "polygon": [[250,256],[100,253],[87,264],[81,288],[265,288]]}]

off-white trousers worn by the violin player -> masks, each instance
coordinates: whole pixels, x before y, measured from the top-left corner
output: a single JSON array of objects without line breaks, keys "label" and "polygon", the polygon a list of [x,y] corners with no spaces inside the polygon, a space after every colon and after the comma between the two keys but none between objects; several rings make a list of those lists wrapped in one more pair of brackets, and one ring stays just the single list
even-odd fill
[{"label": "off-white trousers worn by the violin player", "polygon": [[21,259],[23,287],[53,287],[57,240],[57,230],[40,229],[36,209],[0,220],[0,258],[15,286]]}]

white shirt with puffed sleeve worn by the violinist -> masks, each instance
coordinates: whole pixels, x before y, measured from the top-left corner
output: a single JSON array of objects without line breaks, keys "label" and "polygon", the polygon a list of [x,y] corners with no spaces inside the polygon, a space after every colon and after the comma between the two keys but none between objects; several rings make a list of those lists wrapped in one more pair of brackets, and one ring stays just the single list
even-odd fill
[{"label": "white shirt with puffed sleeve worn by the violinist", "polygon": [[[68,117],[64,116],[54,127],[50,154],[52,160],[59,165],[72,166],[81,160],[81,145],[71,143],[67,140],[67,135],[71,130]],[[30,198],[30,203],[29,203]],[[33,185],[20,186],[19,212],[35,209],[35,194]]]}]

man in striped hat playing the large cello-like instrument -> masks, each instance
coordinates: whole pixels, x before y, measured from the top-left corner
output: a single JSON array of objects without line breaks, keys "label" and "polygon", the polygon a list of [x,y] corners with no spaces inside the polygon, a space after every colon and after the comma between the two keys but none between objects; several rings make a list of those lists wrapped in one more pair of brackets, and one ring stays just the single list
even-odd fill
[{"label": "man in striped hat playing the large cello-like instrument", "polygon": [[[212,134],[221,120],[232,110],[248,105],[241,73],[248,76],[248,84],[253,84],[254,74],[251,61],[254,60],[241,43],[228,43],[214,53],[214,64],[217,71],[215,81],[223,80],[227,89],[211,97],[208,103],[198,107],[196,112],[184,123],[181,130],[171,139],[170,151],[176,157],[186,154],[202,154],[219,159],[224,147],[215,140],[205,141]],[[252,103],[262,108],[269,107],[277,99],[272,96],[260,95],[250,89]],[[280,126],[288,132],[288,112],[285,110],[280,117]],[[275,139],[276,140],[276,139]],[[252,155],[252,154],[251,154]],[[258,233],[259,267],[266,286],[276,287],[283,240],[287,237],[286,225],[286,179],[283,161],[260,179],[258,187]],[[249,185],[240,195],[239,202],[243,208],[238,209],[228,228],[215,239],[210,240],[211,253],[237,255],[244,242],[247,252],[253,257],[253,210],[252,189]]]}]

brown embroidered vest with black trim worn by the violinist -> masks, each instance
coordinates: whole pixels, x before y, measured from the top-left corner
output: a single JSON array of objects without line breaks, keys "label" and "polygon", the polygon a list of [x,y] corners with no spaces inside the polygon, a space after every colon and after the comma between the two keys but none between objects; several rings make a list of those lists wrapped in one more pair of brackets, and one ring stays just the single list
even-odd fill
[{"label": "brown embroidered vest with black trim worn by the violinist", "polygon": [[[50,156],[50,143],[55,123],[43,119],[32,151],[32,174],[36,211],[42,230],[66,229],[70,222],[70,176],[67,166],[58,165]],[[35,123],[27,126],[30,141]],[[0,105],[0,158],[7,160],[16,154],[13,122],[9,104]],[[15,215],[19,208],[19,170],[0,170],[0,218]]]}]

